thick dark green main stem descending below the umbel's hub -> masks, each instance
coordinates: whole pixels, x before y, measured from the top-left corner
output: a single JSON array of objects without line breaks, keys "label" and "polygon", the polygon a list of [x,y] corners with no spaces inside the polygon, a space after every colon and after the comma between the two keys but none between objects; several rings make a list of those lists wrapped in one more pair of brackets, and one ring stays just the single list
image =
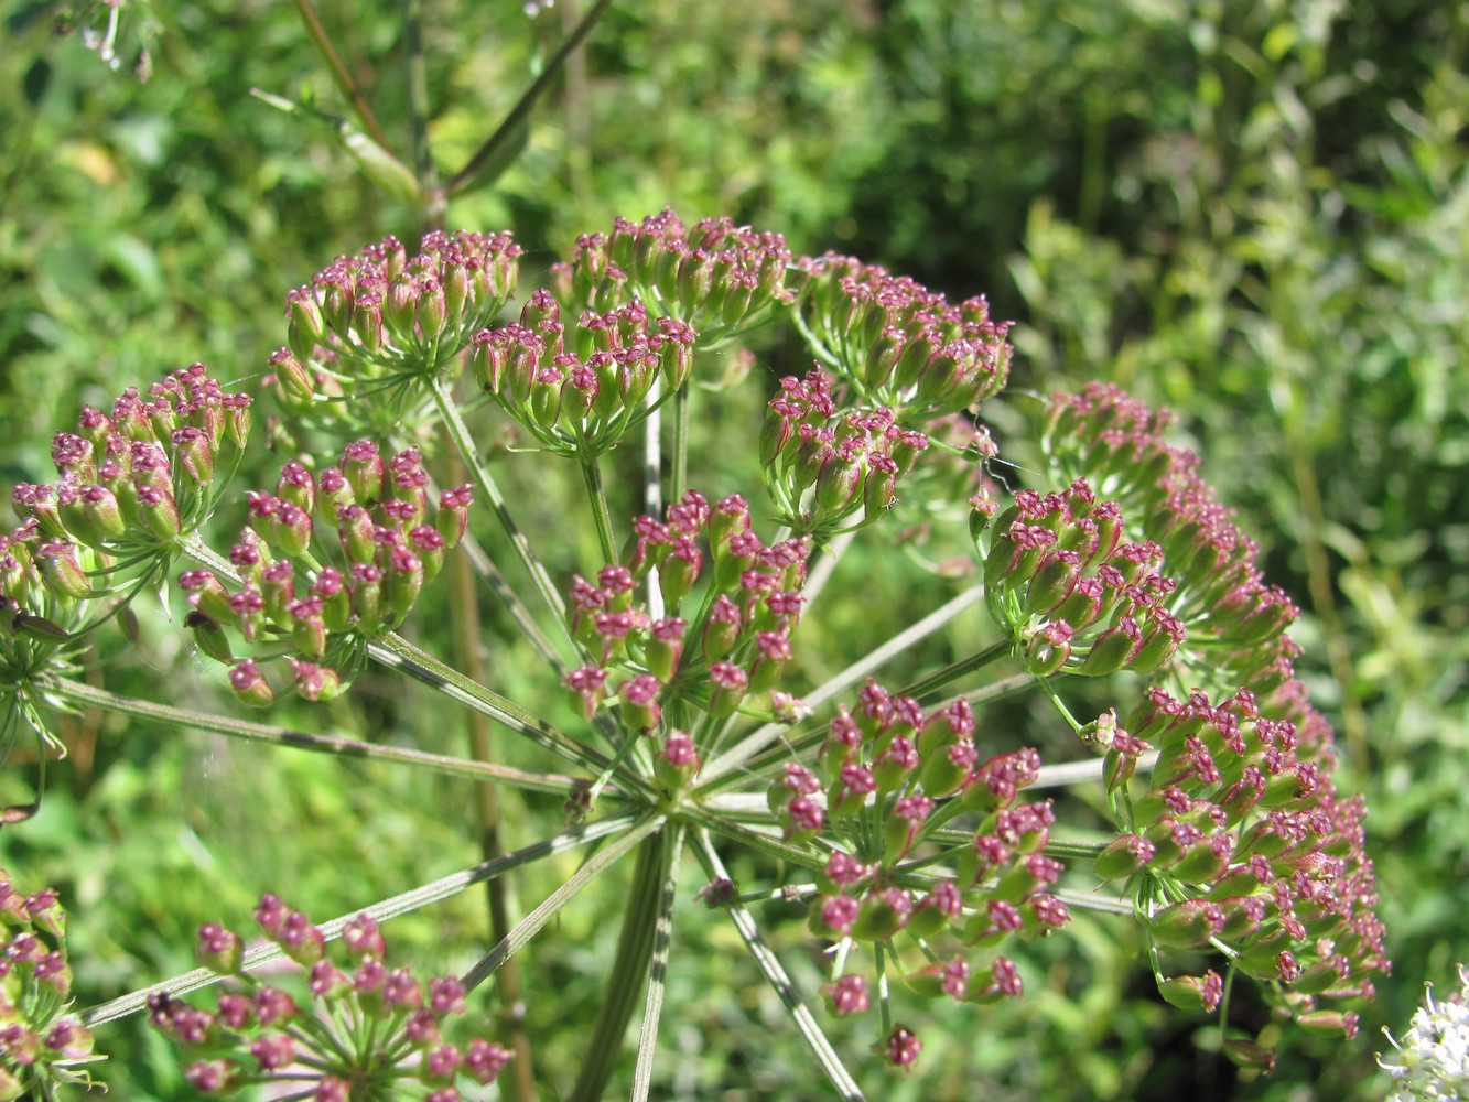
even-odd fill
[{"label": "thick dark green main stem descending below the umbel's hub", "polygon": [[660,901],[673,860],[671,833],[677,832],[665,830],[661,838],[646,838],[638,849],[638,867],[624,896],[623,929],[617,936],[613,973],[607,977],[607,993],[586,1043],[570,1102],[598,1102],[623,1055],[627,1023],[632,1021],[652,961]]}]

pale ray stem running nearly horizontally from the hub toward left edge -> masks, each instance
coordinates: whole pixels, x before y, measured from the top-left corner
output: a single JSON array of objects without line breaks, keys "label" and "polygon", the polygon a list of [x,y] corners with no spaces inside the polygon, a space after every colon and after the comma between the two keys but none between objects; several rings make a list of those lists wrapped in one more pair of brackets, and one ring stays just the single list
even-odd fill
[{"label": "pale ray stem running nearly horizontally from the hub toward left edge", "polygon": [[552,792],[569,795],[588,786],[588,780],[566,777],[557,773],[527,773],[510,766],[495,766],[486,761],[467,761],[464,758],[447,757],[444,754],[427,754],[407,746],[389,746],[376,742],[358,742],[344,739],[336,735],[310,735],[304,730],[278,727],[266,723],[253,723],[226,716],[209,716],[200,711],[173,708],[166,704],[120,696],[106,689],[95,689],[81,682],[62,677],[47,677],[40,682],[41,689],[66,704],[79,707],[106,708],[119,716],[135,716],[156,723],[167,723],[176,727],[192,727],[207,730],[213,735],[266,742],[278,746],[292,746],[308,749],[317,754],[333,754],[344,758],[379,758],[395,761],[403,766],[416,766],[445,776],[467,777],[470,780],[502,782],[532,792]]}]

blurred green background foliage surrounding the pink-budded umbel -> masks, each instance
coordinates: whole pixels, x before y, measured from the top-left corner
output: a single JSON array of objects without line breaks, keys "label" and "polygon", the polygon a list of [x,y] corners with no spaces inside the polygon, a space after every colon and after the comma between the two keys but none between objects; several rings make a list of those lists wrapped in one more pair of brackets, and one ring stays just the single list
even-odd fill
[{"label": "blurred green background foliage surrounding the pink-budded umbel", "polygon": [[[413,7],[444,168],[579,15],[571,0]],[[320,15],[407,150],[400,6],[323,0]],[[263,373],[286,288],[416,234],[329,126],[251,97],[347,113],[292,6],[131,0],[116,69],[82,34],[106,12],[6,0],[0,16],[4,482],[43,480],[50,433],[126,382],[192,360]],[[1172,406],[1307,608],[1303,669],[1341,732],[1343,785],[1368,796],[1397,962],[1363,1036],[1287,1036],[1271,1077],[1235,1078],[1203,1020],[1162,1006],[1119,929],[1078,924],[1080,959],[1042,958],[1015,1008],[946,1015],[924,1076],[880,1080],[881,1096],[1376,1098],[1378,1027],[1406,1024],[1423,980],[1469,957],[1466,60],[1462,0],[629,0],[497,185],[451,204],[451,226],[510,228],[532,262],[671,204],[959,298],[987,291],[1021,323],[1012,386],[1102,378]],[[137,649],[104,655],[110,683],[190,683],[173,635]],[[492,676],[513,679],[513,658]],[[206,704],[210,688],[181,692]],[[311,721],[461,738],[372,683],[328,717]],[[62,889],[84,1004],[188,967],[192,929],[239,923],[261,890],[291,885],[328,917],[476,860],[466,786],[87,716],[68,738],[43,814],[0,835],[0,858]],[[0,774],[4,802],[28,798],[24,764]],[[457,805],[463,821],[435,814]],[[511,845],[558,815],[508,811]],[[548,1068],[574,1064],[598,1004],[611,929],[596,912],[569,911],[535,946]],[[444,946],[473,959],[483,921],[461,898],[392,934],[448,970],[461,961]],[[668,1096],[820,1096],[729,930],[680,936],[708,951],[685,957],[702,973],[671,979],[689,1011],[668,1031]],[[125,1029],[100,1043],[116,1096],[181,1096],[162,1043]]]}]

